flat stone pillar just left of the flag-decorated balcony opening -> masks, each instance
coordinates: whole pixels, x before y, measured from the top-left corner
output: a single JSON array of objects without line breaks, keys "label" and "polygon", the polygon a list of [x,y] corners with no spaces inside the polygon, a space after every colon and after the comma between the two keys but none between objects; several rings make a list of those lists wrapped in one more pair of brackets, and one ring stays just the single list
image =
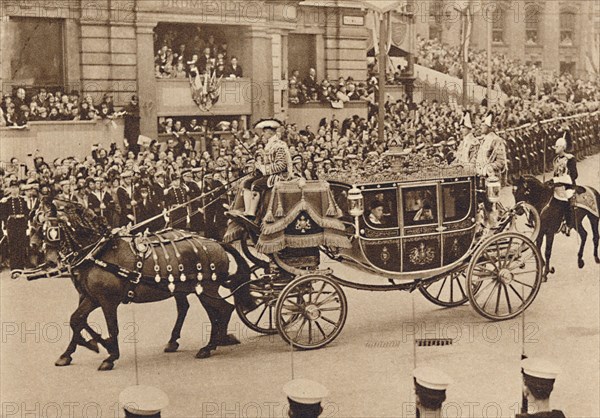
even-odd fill
[{"label": "flat stone pillar just left of the flag-decorated balcony opening", "polygon": [[140,131],[152,139],[158,138],[156,78],[154,77],[154,24],[138,23],[137,91],[140,104]]}]

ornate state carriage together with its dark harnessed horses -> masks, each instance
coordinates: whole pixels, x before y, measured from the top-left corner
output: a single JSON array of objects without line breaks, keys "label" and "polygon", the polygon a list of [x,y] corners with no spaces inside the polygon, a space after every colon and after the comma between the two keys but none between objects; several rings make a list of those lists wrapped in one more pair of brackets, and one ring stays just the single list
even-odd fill
[{"label": "ornate state carriage together with its dark harnessed horses", "polygon": [[[317,181],[280,181],[264,197],[260,223],[236,212],[243,200],[238,196],[224,243],[187,231],[149,232],[145,223],[110,231],[76,203],[67,202],[58,214],[48,211],[42,230],[47,243],[56,243],[59,261],[51,270],[65,266],[80,296],[71,317],[73,338],[56,365],[70,364],[78,345],[98,351],[102,344],[110,356],[100,370],[112,369],[119,358],[116,312],[122,302],[174,297],[178,318],[165,351],[177,350],[187,296],[194,293],[212,325],[200,358],[238,342],[227,335],[234,309],[254,331],[279,333],[296,348],[323,347],[346,321],[343,287],[419,290],[443,307],[470,302],[491,320],[521,314],[543,280],[542,257],[532,241],[540,228],[537,211],[523,202],[503,208],[500,183],[481,183],[471,166],[426,166],[414,156],[396,160],[330,172]],[[493,205],[499,216],[486,227],[486,208]],[[325,259],[367,272],[374,283],[340,277],[335,264],[323,268]],[[38,268],[25,275],[53,274]],[[221,288],[230,295],[222,297]],[[235,308],[225,301],[232,296]],[[87,324],[98,307],[107,339]],[[91,340],[81,335],[84,329]]]}]

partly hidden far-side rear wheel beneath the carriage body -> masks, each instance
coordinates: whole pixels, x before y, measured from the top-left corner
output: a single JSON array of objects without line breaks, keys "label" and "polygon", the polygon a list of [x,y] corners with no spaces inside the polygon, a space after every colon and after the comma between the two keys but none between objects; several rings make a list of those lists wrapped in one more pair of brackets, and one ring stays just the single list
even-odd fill
[{"label": "partly hidden far-side rear wheel beneath the carriage body", "polygon": [[467,267],[448,273],[439,280],[426,283],[419,287],[425,299],[445,308],[454,308],[468,302],[467,296]]}]

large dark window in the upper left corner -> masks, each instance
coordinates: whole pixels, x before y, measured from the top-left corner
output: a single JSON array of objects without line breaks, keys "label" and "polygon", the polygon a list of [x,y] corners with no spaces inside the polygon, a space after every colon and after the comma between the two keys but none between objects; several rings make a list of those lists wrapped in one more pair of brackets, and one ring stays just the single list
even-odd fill
[{"label": "large dark window in the upper left corner", "polygon": [[62,90],[62,19],[11,17],[5,39],[8,45],[2,48],[2,61],[7,65],[7,82],[27,89]]}]

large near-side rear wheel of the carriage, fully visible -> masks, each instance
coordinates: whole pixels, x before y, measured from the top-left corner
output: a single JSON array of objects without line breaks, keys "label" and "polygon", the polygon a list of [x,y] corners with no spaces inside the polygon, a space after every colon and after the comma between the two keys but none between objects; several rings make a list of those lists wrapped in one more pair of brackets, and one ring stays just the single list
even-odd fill
[{"label": "large near-side rear wheel of the carriage, fully visible", "polygon": [[514,318],[537,296],[542,270],[542,256],[529,238],[515,232],[494,235],[479,246],[469,264],[469,302],[485,318]]}]

